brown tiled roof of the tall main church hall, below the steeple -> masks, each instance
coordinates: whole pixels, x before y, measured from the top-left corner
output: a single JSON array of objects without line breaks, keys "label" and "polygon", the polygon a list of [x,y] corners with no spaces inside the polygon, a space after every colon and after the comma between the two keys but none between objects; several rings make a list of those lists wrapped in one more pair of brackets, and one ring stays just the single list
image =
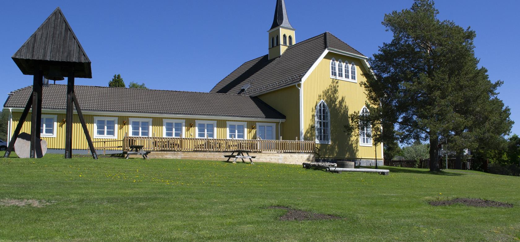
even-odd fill
[{"label": "brown tiled roof of the tall main church hall, below the steeple", "polygon": [[268,60],[265,55],[243,63],[210,92],[237,94],[242,86],[250,84],[241,94],[254,96],[297,83],[328,47],[364,56],[333,34],[325,32],[290,46],[278,58]]}]

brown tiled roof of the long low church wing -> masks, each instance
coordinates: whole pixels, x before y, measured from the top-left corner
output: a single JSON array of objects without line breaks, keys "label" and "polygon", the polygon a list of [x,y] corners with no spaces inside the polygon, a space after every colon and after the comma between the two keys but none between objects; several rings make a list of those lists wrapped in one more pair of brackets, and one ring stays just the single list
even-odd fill
[{"label": "brown tiled roof of the long low church wing", "polygon": [[[285,119],[282,113],[259,98],[245,95],[108,86],[77,85],[74,88],[81,109],[85,111]],[[4,107],[25,107],[31,91],[32,86],[14,91]],[[44,86],[42,96],[43,109],[65,109],[67,85]]]}]

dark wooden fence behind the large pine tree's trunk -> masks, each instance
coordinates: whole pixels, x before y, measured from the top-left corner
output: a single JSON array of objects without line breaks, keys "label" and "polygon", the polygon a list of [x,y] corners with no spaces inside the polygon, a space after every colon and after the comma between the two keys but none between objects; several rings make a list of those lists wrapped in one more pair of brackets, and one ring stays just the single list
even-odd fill
[{"label": "dark wooden fence behind the large pine tree's trunk", "polygon": [[[439,167],[440,169],[446,169],[446,158],[439,158]],[[455,169],[456,159],[448,159],[448,169]],[[404,167],[404,168],[422,168],[429,169],[430,168],[430,159],[421,159],[417,160],[384,160],[384,165],[388,165],[389,167]],[[477,166],[475,165],[474,159],[462,159],[462,170],[475,170]]]}]

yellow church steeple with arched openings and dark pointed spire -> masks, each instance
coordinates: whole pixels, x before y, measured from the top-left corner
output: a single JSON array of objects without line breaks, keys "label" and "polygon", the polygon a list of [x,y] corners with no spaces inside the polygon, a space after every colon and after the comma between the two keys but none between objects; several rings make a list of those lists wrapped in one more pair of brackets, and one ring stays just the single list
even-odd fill
[{"label": "yellow church steeple with arched openings and dark pointed spire", "polygon": [[294,28],[287,17],[284,0],[276,0],[275,18],[269,31],[269,59],[283,54],[285,50],[296,43]]}]

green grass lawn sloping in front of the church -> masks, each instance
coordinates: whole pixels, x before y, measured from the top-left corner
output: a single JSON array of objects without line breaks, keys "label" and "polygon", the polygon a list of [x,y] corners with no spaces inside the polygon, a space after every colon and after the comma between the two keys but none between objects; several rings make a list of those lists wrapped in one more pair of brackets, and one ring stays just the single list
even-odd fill
[{"label": "green grass lawn sloping in front of the church", "polygon": [[[1,155],[1,154],[0,154]],[[257,162],[0,158],[0,241],[514,241],[520,177],[326,173]],[[513,208],[432,207],[457,197]],[[285,206],[340,220],[279,221]]]}]

